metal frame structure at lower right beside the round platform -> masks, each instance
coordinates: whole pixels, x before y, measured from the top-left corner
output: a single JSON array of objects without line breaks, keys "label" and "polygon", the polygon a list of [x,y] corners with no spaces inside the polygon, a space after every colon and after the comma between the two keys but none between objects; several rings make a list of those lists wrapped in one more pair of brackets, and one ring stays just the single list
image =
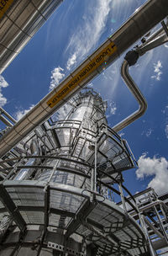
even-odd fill
[{"label": "metal frame structure at lower right beside the round platform", "polygon": [[128,207],[129,214],[134,216],[134,219],[137,221],[140,221],[140,218],[143,219],[144,223],[141,226],[144,227],[150,249],[154,255],[155,253],[156,255],[160,254],[159,250],[167,247],[167,196],[167,193],[162,196],[157,195],[154,189],[145,189],[134,195],[134,199],[139,205],[140,215]]}]

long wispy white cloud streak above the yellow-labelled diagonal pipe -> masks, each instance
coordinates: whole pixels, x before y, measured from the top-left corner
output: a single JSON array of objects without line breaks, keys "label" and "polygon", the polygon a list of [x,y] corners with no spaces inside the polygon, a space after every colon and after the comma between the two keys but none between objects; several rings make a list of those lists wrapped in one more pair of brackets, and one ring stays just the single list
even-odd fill
[{"label": "long wispy white cloud streak above the yellow-labelled diagonal pipe", "polygon": [[92,4],[88,5],[87,13],[82,17],[82,23],[76,26],[74,35],[67,46],[67,50],[71,49],[71,57],[67,61],[66,68],[68,70],[74,67],[76,60],[79,62],[86,56],[92,47],[95,47],[100,39],[108,19],[110,12],[110,3],[112,0],[97,0],[94,2],[94,12],[92,12]]}]

